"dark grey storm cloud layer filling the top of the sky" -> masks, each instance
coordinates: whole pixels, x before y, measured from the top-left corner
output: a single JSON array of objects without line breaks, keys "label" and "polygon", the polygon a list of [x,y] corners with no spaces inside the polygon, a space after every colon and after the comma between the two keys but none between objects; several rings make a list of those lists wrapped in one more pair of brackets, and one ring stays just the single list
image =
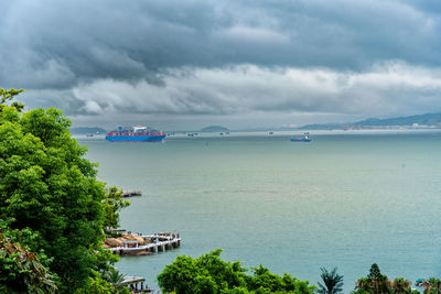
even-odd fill
[{"label": "dark grey storm cloud layer filling the top of the sky", "polygon": [[[69,88],[97,78],[155,83],[161,68],[184,66],[363,70],[389,59],[441,65],[433,1],[23,0],[1,6],[6,86]],[[35,72],[40,75],[32,78]]]}]

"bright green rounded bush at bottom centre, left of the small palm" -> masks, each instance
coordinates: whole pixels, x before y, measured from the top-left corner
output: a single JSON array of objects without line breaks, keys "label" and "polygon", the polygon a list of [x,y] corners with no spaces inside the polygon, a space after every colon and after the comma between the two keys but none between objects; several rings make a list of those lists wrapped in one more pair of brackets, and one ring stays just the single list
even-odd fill
[{"label": "bright green rounded bush at bottom centre, left of the small palm", "polygon": [[165,293],[313,293],[315,286],[290,274],[279,276],[263,266],[254,268],[252,275],[240,262],[220,259],[222,249],[193,259],[180,255],[158,275]]}]

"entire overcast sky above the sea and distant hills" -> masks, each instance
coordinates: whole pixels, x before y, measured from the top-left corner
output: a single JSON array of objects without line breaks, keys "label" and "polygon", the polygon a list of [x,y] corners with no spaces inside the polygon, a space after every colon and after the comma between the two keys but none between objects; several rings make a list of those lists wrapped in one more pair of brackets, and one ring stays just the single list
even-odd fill
[{"label": "entire overcast sky above the sea and distant hills", "polygon": [[74,127],[441,112],[439,0],[0,1],[0,88]]}]

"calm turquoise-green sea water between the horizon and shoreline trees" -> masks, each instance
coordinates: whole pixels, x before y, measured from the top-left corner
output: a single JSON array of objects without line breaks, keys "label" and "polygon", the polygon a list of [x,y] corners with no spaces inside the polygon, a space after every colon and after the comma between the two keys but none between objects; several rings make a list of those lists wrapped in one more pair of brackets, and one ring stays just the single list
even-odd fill
[{"label": "calm turquoise-green sea water between the horizon and shoreline trees", "polygon": [[178,254],[223,248],[226,260],[312,283],[321,266],[338,266],[346,292],[374,262],[389,277],[440,276],[441,133],[313,139],[79,141],[101,181],[143,193],[121,213],[122,228],[182,233],[180,249],[117,266],[157,287]]}]

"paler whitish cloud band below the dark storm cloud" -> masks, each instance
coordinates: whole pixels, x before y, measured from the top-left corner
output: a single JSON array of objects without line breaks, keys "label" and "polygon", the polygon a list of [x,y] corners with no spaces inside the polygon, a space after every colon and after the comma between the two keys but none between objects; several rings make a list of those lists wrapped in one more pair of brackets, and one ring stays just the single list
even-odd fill
[{"label": "paler whitish cloud band below the dark storm cloud", "polygon": [[78,85],[72,97],[82,107],[71,115],[441,111],[441,70],[402,62],[376,64],[364,73],[256,65],[182,68],[170,69],[162,80],[154,85],[97,79]]}]

